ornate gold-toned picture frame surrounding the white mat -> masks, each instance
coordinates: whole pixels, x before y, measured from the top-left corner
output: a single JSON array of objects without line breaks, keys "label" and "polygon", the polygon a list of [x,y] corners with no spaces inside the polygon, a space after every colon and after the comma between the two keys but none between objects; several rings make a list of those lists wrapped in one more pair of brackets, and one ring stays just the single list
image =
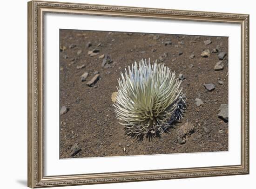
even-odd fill
[{"label": "ornate gold-toned picture frame surrounding the white mat", "polygon": [[[241,164],[172,170],[147,170],[82,175],[44,175],[44,13],[175,19],[241,25]],[[249,174],[249,15],[61,2],[28,2],[28,186],[31,188],[94,183],[147,181],[202,176]]]}]

